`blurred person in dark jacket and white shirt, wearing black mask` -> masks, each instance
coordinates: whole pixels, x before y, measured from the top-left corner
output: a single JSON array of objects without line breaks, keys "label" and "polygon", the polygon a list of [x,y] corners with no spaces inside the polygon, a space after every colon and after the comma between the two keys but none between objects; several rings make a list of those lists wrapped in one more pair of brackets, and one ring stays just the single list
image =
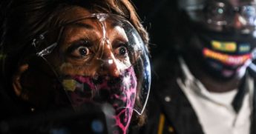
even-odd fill
[{"label": "blurred person in dark jacket and white shirt, wearing black mask", "polygon": [[177,4],[175,51],[154,60],[140,133],[256,133],[256,1]]}]

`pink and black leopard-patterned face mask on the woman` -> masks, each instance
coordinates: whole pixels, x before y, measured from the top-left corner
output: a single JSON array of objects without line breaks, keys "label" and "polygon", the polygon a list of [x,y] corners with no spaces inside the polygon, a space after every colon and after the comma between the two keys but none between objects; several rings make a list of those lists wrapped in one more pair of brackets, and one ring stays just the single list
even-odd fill
[{"label": "pink and black leopard-patterned face mask on the woman", "polygon": [[116,122],[113,127],[119,128],[119,132],[115,133],[126,133],[137,90],[137,78],[133,67],[124,70],[119,77],[68,76],[68,78],[62,78],[62,84],[67,90],[73,107],[90,102],[111,104],[116,115],[110,118]]}]

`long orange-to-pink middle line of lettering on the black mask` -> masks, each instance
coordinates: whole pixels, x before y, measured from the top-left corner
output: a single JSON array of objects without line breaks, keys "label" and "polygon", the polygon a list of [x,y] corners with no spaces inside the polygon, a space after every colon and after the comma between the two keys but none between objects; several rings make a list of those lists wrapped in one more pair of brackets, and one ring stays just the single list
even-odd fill
[{"label": "long orange-to-pink middle line of lettering on the black mask", "polygon": [[252,57],[251,54],[231,56],[223,53],[214,52],[213,50],[209,50],[208,48],[203,49],[203,56],[205,56],[206,58],[212,58],[227,65],[241,65]]}]

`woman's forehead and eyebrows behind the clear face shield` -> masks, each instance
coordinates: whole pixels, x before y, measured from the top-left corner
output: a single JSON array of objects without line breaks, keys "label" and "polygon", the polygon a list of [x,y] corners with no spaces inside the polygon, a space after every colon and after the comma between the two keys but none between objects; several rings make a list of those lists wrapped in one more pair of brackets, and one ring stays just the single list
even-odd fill
[{"label": "woman's forehead and eyebrows behind the clear face shield", "polygon": [[[86,38],[91,42],[101,41],[102,38],[108,38],[109,41],[114,41],[116,38],[122,41],[128,41],[128,37],[123,27],[122,20],[117,20],[111,17],[103,16],[85,17],[72,21],[65,25],[62,39],[64,42],[70,42]],[[106,18],[105,18],[106,17]]]}]

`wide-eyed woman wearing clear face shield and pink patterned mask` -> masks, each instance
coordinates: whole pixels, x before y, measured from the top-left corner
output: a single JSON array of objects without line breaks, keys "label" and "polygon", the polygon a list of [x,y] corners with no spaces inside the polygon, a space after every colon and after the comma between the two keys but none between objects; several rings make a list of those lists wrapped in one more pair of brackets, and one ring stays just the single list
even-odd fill
[{"label": "wide-eyed woman wearing clear face shield and pink patterned mask", "polygon": [[8,100],[1,102],[7,106],[4,121],[13,115],[69,106],[79,112],[84,106],[108,104],[114,115],[105,115],[114,120],[111,127],[117,133],[127,132],[133,114],[142,122],[151,76],[148,35],[128,0],[6,3],[1,40],[1,96]]}]

